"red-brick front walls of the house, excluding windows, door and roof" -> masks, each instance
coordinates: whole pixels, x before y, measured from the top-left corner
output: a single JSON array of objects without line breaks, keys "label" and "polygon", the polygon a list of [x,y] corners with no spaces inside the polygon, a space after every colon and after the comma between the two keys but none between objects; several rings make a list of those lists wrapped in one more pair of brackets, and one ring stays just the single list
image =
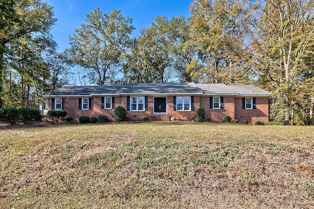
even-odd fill
[{"label": "red-brick front walls of the house, excluding windows, door and roof", "polygon": [[[163,97],[163,96],[157,96]],[[166,113],[164,120],[169,120],[169,117],[175,117],[183,121],[192,121],[196,117],[196,110],[199,107],[205,109],[207,118],[212,122],[221,122],[223,116],[231,116],[232,119],[237,119],[239,123],[247,120],[251,124],[256,121],[268,121],[268,97],[256,97],[256,109],[245,110],[242,109],[242,97],[224,96],[223,109],[210,109],[209,96],[194,96],[194,111],[175,111],[174,110],[174,96],[166,97]],[[115,107],[122,106],[127,108],[127,96],[115,96]],[[64,99],[64,110],[68,112],[69,117],[73,117],[78,121],[80,116],[98,117],[105,115],[109,120],[113,120],[114,109],[102,109],[102,97],[92,97],[91,110],[78,109],[79,98],[68,97]],[[147,111],[127,111],[128,121],[140,121],[144,117],[152,118],[154,113],[154,96],[148,96]],[[48,111],[52,110],[52,98],[48,99]],[[168,117],[169,116],[169,117]],[[205,118],[206,120],[206,118]]]}]

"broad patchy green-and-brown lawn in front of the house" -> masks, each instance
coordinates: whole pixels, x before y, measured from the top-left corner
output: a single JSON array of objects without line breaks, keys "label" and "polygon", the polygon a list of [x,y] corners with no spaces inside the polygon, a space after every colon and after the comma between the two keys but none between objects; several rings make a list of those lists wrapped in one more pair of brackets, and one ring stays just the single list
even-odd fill
[{"label": "broad patchy green-and-brown lawn in front of the house", "polygon": [[0,208],[314,207],[314,127],[87,124],[0,136]]}]

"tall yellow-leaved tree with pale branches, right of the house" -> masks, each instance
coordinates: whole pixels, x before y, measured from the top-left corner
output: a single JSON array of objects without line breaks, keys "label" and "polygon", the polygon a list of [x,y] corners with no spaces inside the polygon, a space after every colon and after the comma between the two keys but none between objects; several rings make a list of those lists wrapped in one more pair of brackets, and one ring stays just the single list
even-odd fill
[{"label": "tall yellow-leaved tree with pale branches, right of the house", "polygon": [[254,8],[253,68],[261,85],[284,101],[285,124],[290,118],[293,124],[295,110],[301,107],[300,84],[311,69],[305,61],[313,59],[314,1],[258,0]]}]

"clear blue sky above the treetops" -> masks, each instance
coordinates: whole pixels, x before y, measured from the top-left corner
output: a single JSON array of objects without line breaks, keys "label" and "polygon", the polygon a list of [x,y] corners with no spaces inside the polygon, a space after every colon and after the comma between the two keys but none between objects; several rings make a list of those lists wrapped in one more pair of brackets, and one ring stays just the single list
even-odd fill
[{"label": "clear blue sky above the treetops", "polygon": [[189,4],[193,0],[46,0],[53,6],[54,17],[57,22],[53,26],[52,35],[59,46],[59,51],[69,47],[69,36],[74,29],[84,23],[85,15],[99,7],[104,13],[121,10],[124,17],[133,19],[135,30],[133,36],[148,27],[157,16],[189,17]]}]

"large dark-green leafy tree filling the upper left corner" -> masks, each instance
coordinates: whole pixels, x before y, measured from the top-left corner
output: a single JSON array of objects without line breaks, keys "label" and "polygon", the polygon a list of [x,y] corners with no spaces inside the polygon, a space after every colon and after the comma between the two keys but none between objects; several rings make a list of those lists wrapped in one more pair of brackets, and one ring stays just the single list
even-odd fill
[{"label": "large dark-green leafy tree filling the upper left corner", "polygon": [[52,7],[41,0],[0,0],[0,107],[3,81],[15,49],[35,35],[49,34],[56,21],[52,17]]}]

